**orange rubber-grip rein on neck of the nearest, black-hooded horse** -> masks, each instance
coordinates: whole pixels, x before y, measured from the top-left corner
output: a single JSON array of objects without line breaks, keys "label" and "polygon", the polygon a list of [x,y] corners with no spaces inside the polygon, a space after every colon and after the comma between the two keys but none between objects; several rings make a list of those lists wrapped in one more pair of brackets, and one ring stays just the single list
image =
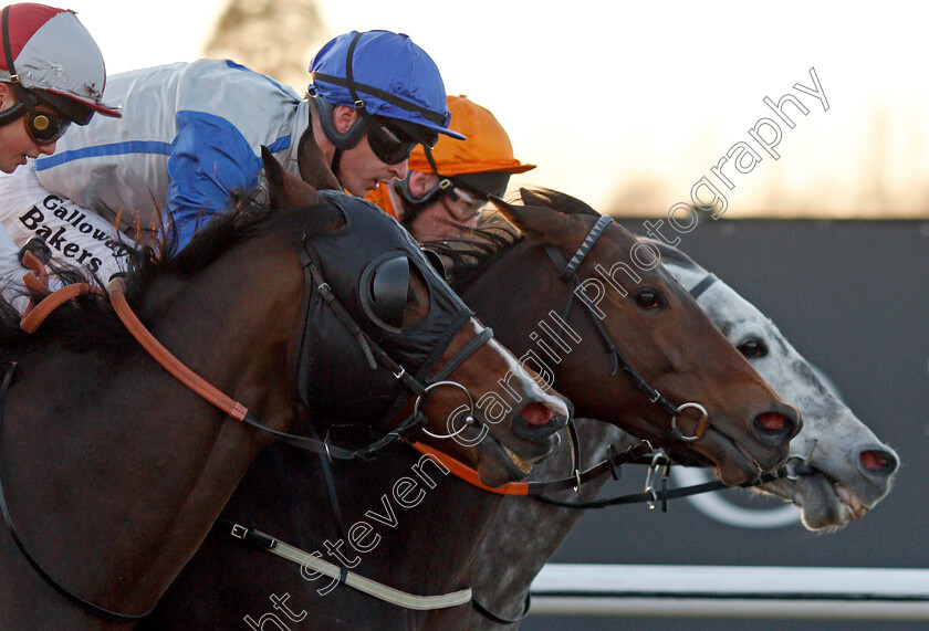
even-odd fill
[{"label": "orange rubber-grip rein on neck of the nearest, black-hooded horse", "polygon": [[[23,276],[23,284],[30,290],[48,291],[48,274],[45,273],[45,269],[42,263],[33,256],[31,252],[27,252],[23,256],[23,264],[31,270],[31,272]],[[170,372],[178,381],[194,390],[194,392],[233,419],[239,421],[243,420],[249,411],[248,408],[220,392],[206,379],[185,366],[167,348],[161,346],[161,344],[155,339],[155,336],[145,328],[145,325],[142,324],[138,317],[136,317],[135,313],[133,313],[129,303],[126,302],[125,291],[126,283],[123,278],[118,277],[109,282],[105,292],[88,283],[65,285],[64,287],[45,296],[38,305],[30,302],[22,320],[20,320],[20,328],[27,333],[33,333],[49,314],[65,302],[82,294],[100,294],[102,296],[108,296],[109,303],[113,305],[113,309],[116,312],[116,315],[119,316],[119,320],[126,329],[133,335],[133,337],[136,338],[142,347],[145,348],[145,350],[147,350],[148,354],[165,368],[165,370]]]}]

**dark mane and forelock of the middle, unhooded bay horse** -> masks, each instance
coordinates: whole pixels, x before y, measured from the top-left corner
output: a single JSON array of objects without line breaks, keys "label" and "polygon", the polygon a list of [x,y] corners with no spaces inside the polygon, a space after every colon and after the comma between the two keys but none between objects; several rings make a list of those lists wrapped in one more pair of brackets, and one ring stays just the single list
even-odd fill
[{"label": "dark mane and forelock of the middle, unhooded bay horse", "polygon": [[[564,214],[601,215],[580,199],[561,191],[523,188],[520,192],[528,206],[543,206]],[[486,213],[478,227],[468,230],[464,236],[429,241],[422,246],[434,250],[442,257],[449,285],[456,292],[461,292],[522,240],[519,228],[494,211]]]}]

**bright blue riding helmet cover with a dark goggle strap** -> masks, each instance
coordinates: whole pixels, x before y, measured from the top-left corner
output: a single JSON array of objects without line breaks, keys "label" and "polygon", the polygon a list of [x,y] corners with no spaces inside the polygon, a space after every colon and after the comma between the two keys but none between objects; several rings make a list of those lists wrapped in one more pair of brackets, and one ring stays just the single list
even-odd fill
[{"label": "bright blue riding helmet cover with a dark goggle strap", "polygon": [[310,63],[310,94],[333,105],[356,107],[351,83],[368,114],[464,139],[448,129],[451,113],[445,83],[426,51],[403,33],[367,31],[355,42],[357,35],[357,31],[338,35],[320,49]]}]

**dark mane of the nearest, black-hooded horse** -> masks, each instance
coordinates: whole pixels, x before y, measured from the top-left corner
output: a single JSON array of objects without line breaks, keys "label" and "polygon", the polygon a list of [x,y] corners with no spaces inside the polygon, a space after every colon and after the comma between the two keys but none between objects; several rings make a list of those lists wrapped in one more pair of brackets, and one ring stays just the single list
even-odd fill
[{"label": "dark mane of the nearest, black-hooded horse", "polygon": [[[292,223],[302,220],[302,231],[307,238],[332,230],[332,223],[342,213],[332,204],[321,204],[313,212],[273,210],[260,203],[254,196],[239,199],[231,212],[211,218],[179,252],[175,252],[177,233],[167,231],[154,245],[132,248],[126,243],[127,270],[125,272],[126,299],[138,312],[142,299],[152,283],[168,274],[188,277],[203,270],[229,250],[247,242],[261,232],[261,228],[286,214]],[[282,220],[283,221],[283,220]],[[50,275],[65,284],[87,283],[104,288],[104,281],[96,274],[76,265],[50,264]],[[41,301],[46,294],[29,292],[19,295]],[[0,297],[0,348],[4,356],[28,353],[58,341],[70,351],[87,353],[93,349],[124,348],[134,338],[116,316],[109,301],[97,294],[83,294],[67,301],[52,312],[35,333],[20,328],[20,313],[7,297]]]}]

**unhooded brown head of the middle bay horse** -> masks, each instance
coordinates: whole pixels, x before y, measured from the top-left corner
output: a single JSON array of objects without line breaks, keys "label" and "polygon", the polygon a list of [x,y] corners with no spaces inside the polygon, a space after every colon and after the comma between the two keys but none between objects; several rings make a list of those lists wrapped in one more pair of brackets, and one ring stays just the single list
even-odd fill
[{"label": "unhooded brown head of the middle bay horse", "polygon": [[[498,207],[533,249],[522,261],[536,278],[533,299],[573,305],[562,314],[561,346],[537,345],[536,356],[556,365],[559,388],[578,414],[649,439],[677,425],[688,442],[675,450],[709,460],[729,484],[780,466],[800,431],[798,412],[713,327],[650,244],[563,193],[521,194],[525,206]],[[559,253],[561,269],[546,248]],[[572,257],[576,270],[560,280]],[[539,270],[551,273],[539,280]],[[487,276],[480,284],[487,291]],[[510,299],[518,297],[510,287]]]}]

